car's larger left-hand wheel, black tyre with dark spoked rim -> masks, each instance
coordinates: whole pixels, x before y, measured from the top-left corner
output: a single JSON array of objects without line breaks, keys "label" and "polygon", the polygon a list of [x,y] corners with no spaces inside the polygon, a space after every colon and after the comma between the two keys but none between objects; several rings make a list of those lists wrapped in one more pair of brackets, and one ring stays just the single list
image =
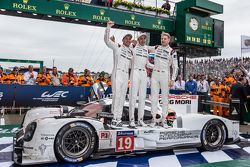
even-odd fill
[{"label": "car's larger left-hand wheel, black tyre with dark spoked rim", "polygon": [[55,154],[62,161],[82,162],[93,153],[96,139],[95,130],[89,124],[68,123],[56,136]]}]

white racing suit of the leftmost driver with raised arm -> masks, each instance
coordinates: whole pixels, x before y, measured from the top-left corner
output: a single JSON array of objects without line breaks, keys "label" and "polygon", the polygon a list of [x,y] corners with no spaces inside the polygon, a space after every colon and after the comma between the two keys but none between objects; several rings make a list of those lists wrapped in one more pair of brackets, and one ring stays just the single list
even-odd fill
[{"label": "white racing suit of the leftmost driver with raised arm", "polygon": [[132,51],[129,47],[124,45],[118,46],[118,44],[111,41],[110,29],[107,27],[104,34],[104,41],[106,45],[113,50],[114,67],[112,70],[112,113],[115,120],[121,120],[123,105],[126,98],[128,89],[128,72],[131,65]]}]

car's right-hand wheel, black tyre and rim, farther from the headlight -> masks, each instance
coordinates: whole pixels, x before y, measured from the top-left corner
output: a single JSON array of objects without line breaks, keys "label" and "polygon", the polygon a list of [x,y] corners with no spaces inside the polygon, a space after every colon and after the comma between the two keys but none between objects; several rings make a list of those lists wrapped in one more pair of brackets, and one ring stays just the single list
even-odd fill
[{"label": "car's right-hand wheel, black tyre and rim, farther from the headlight", "polygon": [[222,148],[226,140],[226,127],[220,120],[208,121],[201,131],[202,148],[216,151]]}]

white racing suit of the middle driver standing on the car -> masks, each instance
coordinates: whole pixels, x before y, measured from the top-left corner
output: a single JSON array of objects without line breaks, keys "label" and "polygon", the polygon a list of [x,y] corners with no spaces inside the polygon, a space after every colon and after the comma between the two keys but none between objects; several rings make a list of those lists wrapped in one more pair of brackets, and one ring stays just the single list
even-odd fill
[{"label": "white racing suit of the middle driver standing on the car", "polygon": [[133,48],[132,69],[131,69],[131,88],[129,94],[129,119],[135,120],[135,104],[139,92],[138,121],[143,120],[144,108],[147,91],[147,71],[146,66],[153,68],[154,65],[148,61],[148,47],[137,44]]}]

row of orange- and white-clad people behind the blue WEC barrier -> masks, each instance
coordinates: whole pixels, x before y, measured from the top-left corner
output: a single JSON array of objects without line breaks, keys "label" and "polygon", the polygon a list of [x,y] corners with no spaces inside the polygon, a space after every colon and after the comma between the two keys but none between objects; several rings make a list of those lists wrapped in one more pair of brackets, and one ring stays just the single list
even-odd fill
[{"label": "row of orange- and white-clad people behind the blue WEC barrier", "polygon": [[95,82],[104,82],[111,86],[110,76],[101,72],[91,75],[88,69],[85,69],[83,75],[74,73],[73,68],[69,68],[67,73],[59,74],[57,67],[48,71],[44,66],[41,72],[36,72],[32,65],[29,65],[28,71],[21,73],[18,67],[14,67],[10,74],[5,74],[0,67],[0,83],[2,84],[25,84],[25,85],[74,85],[74,86],[91,86]]}]

